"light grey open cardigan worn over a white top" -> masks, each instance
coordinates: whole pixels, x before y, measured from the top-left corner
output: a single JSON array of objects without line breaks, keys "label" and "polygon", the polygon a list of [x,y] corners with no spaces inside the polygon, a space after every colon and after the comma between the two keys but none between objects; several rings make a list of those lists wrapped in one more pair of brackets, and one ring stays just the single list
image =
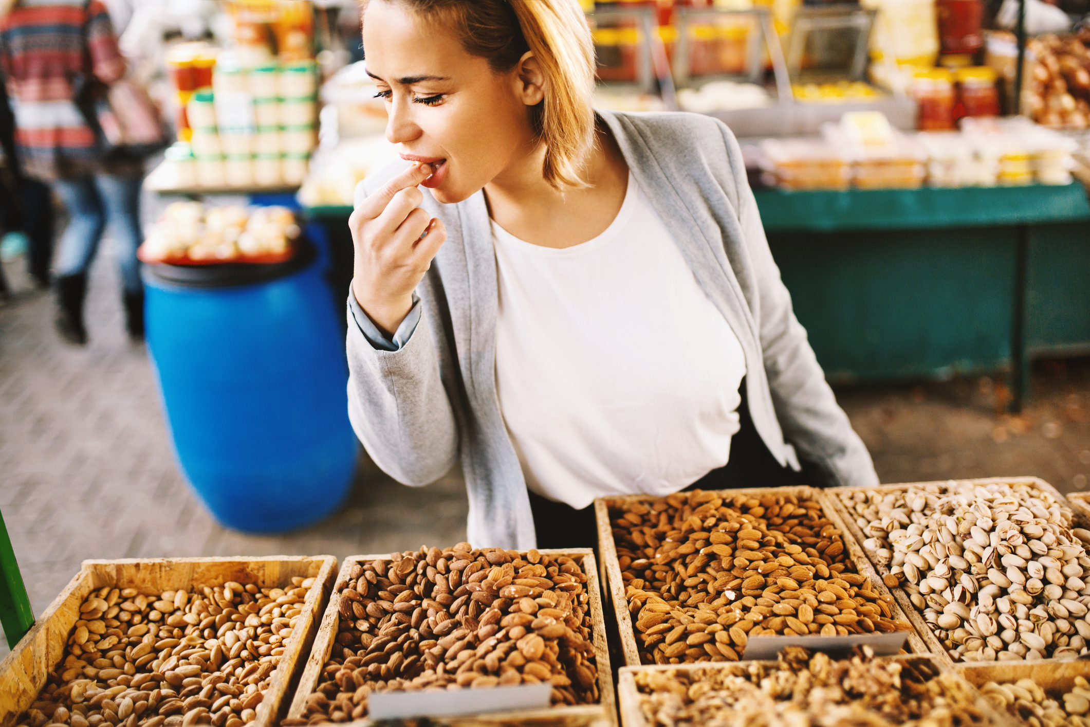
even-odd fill
[{"label": "light grey open cardigan worn over a white top", "polygon": [[[798,450],[823,473],[818,485],[879,484],[791,311],[730,130],[693,113],[598,113],[741,342],[750,414],[768,450],[796,469]],[[361,182],[356,203],[405,166]],[[526,485],[496,395],[498,288],[484,194],[455,205],[425,194],[422,206],[447,228],[416,290],[424,325],[382,350],[349,311],[349,417],[375,463],[407,485],[432,483],[461,459],[470,542],[530,548]],[[668,342],[649,331],[647,344]]]}]

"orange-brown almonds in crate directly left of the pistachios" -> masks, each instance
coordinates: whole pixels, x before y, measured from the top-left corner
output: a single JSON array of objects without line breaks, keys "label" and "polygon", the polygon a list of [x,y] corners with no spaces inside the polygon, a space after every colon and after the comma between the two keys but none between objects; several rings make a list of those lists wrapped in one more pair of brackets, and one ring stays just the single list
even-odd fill
[{"label": "orange-brown almonds in crate directly left of the pistachios", "polygon": [[608,506],[644,664],[737,661],[761,634],[911,630],[814,500],[698,489]]}]

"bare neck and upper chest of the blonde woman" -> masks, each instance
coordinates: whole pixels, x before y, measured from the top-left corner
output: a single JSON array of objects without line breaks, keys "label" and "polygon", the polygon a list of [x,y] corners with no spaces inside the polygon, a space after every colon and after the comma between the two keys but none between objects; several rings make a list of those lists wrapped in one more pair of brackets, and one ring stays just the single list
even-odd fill
[{"label": "bare neck and upper chest of the blonde woman", "polygon": [[557,190],[545,181],[545,147],[530,150],[485,185],[492,218],[514,237],[545,247],[571,247],[602,234],[625,201],[628,165],[606,130],[584,168],[589,186]]}]

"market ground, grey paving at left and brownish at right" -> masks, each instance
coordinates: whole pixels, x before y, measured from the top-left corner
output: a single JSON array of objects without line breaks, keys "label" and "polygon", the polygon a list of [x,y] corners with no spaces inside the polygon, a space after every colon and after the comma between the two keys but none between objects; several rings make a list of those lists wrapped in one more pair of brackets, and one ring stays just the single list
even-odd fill
[{"label": "market ground, grey paving at left and brownish at right", "polygon": [[[93,270],[86,349],[59,342],[51,301],[29,289],[22,267],[7,266],[16,294],[0,306],[0,510],[36,614],[84,558],[342,558],[464,538],[460,475],[411,489],[365,457],[344,508],[318,525],[278,537],[220,528],[174,467],[146,353],[122,334],[113,259],[100,256]],[[1085,489],[1090,364],[1051,362],[1034,386],[1021,417],[1003,413],[1003,390],[986,378],[838,397],[883,482],[1036,474]]]}]

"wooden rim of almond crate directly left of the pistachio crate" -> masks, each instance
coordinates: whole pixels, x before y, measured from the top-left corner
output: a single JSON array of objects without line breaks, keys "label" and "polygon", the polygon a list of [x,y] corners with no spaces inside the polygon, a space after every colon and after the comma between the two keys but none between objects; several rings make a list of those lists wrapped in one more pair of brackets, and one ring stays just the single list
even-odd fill
[{"label": "wooden rim of almond crate directly left of the pistachio crate", "polygon": [[[760,497],[761,495],[775,493],[779,495],[795,495],[801,499],[816,500],[821,504],[822,510],[826,516],[828,516],[828,519],[833,522],[837,530],[843,533],[844,544],[848,549],[848,558],[856,566],[859,574],[869,578],[874,584],[875,591],[884,595],[889,595],[888,589],[886,589],[885,584],[882,583],[882,579],[874,571],[874,567],[871,566],[870,560],[868,560],[867,556],[863,555],[862,546],[856,542],[855,537],[850,535],[847,530],[845,530],[844,523],[837,514],[837,511],[833,509],[832,505],[826,500],[825,495],[821,489],[818,489],[816,487],[796,486],[723,489],[715,492],[725,497],[735,497],[736,495]],[[656,499],[661,498],[654,495],[623,495],[618,497],[598,498],[594,500],[594,513],[597,518],[598,525],[598,553],[602,554],[602,560],[605,564],[606,585],[609,591],[609,601],[613,605],[614,613],[617,616],[617,630],[620,633],[620,645],[621,651],[625,654],[625,664],[627,666],[641,665],[640,650],[635,641],[635,630],[632,626],[632,616],[628,610],[628,598],[625,596],[625,581],[621,578],[620,560],[617,557],[617,545],[613,537],[613,525],[609,520],[609,508],[607,502],[630,500],[651,501]],[[909,620],[908,616],[903,613],[904,609],[896,602],[892,604],[892,610],[893,618],[904,621]],[[928,653],[928,647],[924,645],[924,642],[921,640],[920,635],[916,633],[916,631],[909,632],[906,649],[913,654]],[[714,662],[700,662],[700,664],[713,663]]]}]

